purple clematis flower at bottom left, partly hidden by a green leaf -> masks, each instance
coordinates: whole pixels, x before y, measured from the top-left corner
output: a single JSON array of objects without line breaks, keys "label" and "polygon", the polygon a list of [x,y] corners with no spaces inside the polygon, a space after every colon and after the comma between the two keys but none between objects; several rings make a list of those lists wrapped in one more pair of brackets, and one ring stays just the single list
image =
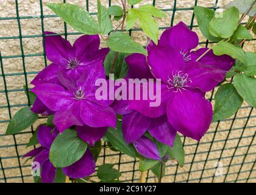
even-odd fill
[{"label": "purple clematis flower at bottom left, partly hidden by a green leaf", "polygon": [[[58,133],[59,132],[55,129],[52,132],[52,127],[40,125],[37,137],[41,146],[23,156],[23,158],[35,157],[34,161],[40,163],[41,181],[43,183],[52,183],[55,179],[57,168],[55,168],[49,160],[49,151],[51,144],[55,137],[57,137]],[[80,160],[76,161],[73,165],[62,168],[62,170],[66,176],[74,179],[90,176],[95,171],[95,162],[91,151],[87,149]]]}]

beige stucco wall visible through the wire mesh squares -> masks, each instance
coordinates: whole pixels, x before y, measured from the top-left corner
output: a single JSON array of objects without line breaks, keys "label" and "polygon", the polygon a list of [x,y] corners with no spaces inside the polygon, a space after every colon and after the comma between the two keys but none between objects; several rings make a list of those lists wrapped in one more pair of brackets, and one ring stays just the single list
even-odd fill
[{"label": "beige stucco wall visible through the wire mesh squares", "polygon": [[[46,2],[62,2],[57,0],[47,0],[43,1],[43,14],[44,15],[52,15],[52,13],[47,7]],[[68,0],[67,2],[73,3],[73,4],[80,4],[82,6],[86,5],[85,0]],[[113,0],[113,4],[119,4],[119,1]],[[150,0],[143,1],[144,2],[151,2]],[[214,0],[212,1],[205,1],[205,0],[199,0],[197,5],[202,5],[205,7],[212,7],[214,5]],[[223,1],[220,0],[218,5],[222,6],[230,1]],[[96,12],[96,0],[89,0],[89,7],[90,12]],[[108,1],[104,0],[102,1],[102,4],[108,5]],[[173,1],[171,0],[157,0],[155,4],[158,8],[162,9],[169,9],[173,7]],[[192,7],[194,5],[194,0],[178,0],[177,1],[177,9],[182,7]],[[20,12],[20,16],[40,16],[40,1],[38,0],[20,0],[18,1],[18,9]],[[186,10],[186,11],[176,11],[176,15],[174,18],[174,24],[177,24],[180,20],[184,21],[186,24],[190,25],[191,23],[191,16],[192,16],[192,10]],[[167,18],[160,20],[160,26],[169,26],[171,21],[171,15],[172,12],[166,12]],[[15,0],[1,0],[0,2],[0,17],[16,17],[16,8],[15,8]],[[41,44],[42,38],[41,37],[34,37],[34,38],[26,38],[27,35],[40,35],[42,32],[41,28],[41,18],[35,17],[32,19],[21,19],[21,29],[22,29],[22,35],[25,36],[22,39],[23,43],[23,49],[24,54],[41,54],[43,53],[43,46]],[[44,30],[57,32],[57,33],[63,33],[63,22],[60,18],[44,18]],[[196,24],[196,19],[194,20],[194,24]],[[204,41],[205,39],[202,37],[200,30],[194,29],[199,34],[200,40]],[[71,27],[68,26],[68,32],[75,32]],[[18,23],[16,19],[7,19],[7,20],[0,20],[0,38],[2,37],[11,37],[11,36],[19,36],[19,29],[18,29]],[[78,36],[77,35],[69,35],[68,40],[73,42]],[[140,43],[146,43],[146,36],[142,32],[133,32],[132,37],[135,41],[138,41]],[[102,46],[105,44],[102,42]],[[248,41],[244,44],[244,49],[246,51],[256,51],[255,48],[255,41]],[[0,51],[1,55],[3,57],[10,56],[10,55],[21,55],[21,46],[20,46],[20,39],[14,38],[14,39],[0,39]],[[23,59],[21,57],[15,57],[15,58],[4,58],[2,59],[2,63],[4,66],[4,73],[5,74],[12,74],[12,73],[23,73]],[[44,67],[44,58],[43,56],[35,56],[35,57],[25,57],[24,63],[26,66],[26,71],[40,71]],[[27,79],[28,82],[30,82],[34,78],[35,74],[28,74]],[[24,75],[17,75],[17,76],[6,76],[5,77],[7,82],[7,89],[8,90],[15,90],[15,89],[21,89],[24,85]],[[29,87],[32,87],[29,85]],[[2,79],[2,73],[0,76],[0,91],[2,92],[4,90],[4,83]],[[10,105],[20,105],[20,104],[27,104],[27,99],[24,94],[24,91],[15,91],[15,92],[9,92],[8,93]],[[5,93],[0,93],[0,120],[8,120],[9,119],[9,112],[8,108],[5,107],[7,105],[6,96]],[[247,106],[246,103],[244,103],[243,106]],[[12,116],[20,109],[20,107],[11,107],[11,113]],[[218,161],[218,157],[220,155],[220,149],[224,146],[224,141],[227,137],[228,129],[230,126],[232,126],[232,132],[230,132],[229,135],[229,141],[227,141],[225,150],[222,154],[221,163],[224,166],[223,172],[224,174],[227,171],[227,166],[230,162],[230,157],[234,156],[232,161],[232,166],[230,167],[230,173],[227,177],[227,181],[232,181],[236,179],[237,174],[232,174],[232,172],[238,172],[240,170],[241,162],[244,160],[243,168],[241,169],[241,174],[238,179],[241,179],[240,182],[245,182],[247,176],[249,175],[249,172],[251,169],[255,170],[255,167],[252,168],[252,165],[255,161],[255,155],[250,155],[250,153],[256,152],[256,140],[252,141],[252,135],[254,135],[256,128],[256,121],[255,118],[252,117],[247,122],[246,130],[244,130],[243,138],[240,141],[239,146],[241,146],[239,149],[237,149],[235,155],[233,152],[235,151],[235,147],[238,144],[238,140],[241,137],[241,133],[243,131],[243,127],[246,124],[246,117],[249,115],[251,108],[245,107],[243,109],[240,109],[238,114],[236,115],[236,120],[233,122],[232,120],[220,122],[218,126],[218,131],[215,136],[215,143],[212,145],[212,152],[208,155],[208,161],[205,164],[205,171],[203,177],[207,177],[206,179],[203,179],[202,182],[210,182],[212,181],[212,176],[214,174],[215,163]],[[255,116],[256,112],[255,109],[252,111],[251,116]],[[233,116],[231,117],[233,118]],[[37,124],[39,124],[38,121]],[[34,125],[34,127],[37,127],[37,124]],[[205,135],[204,138],[202,138],[201,143],[197,147],[196,156],[194,157],[193,153],[196,151],[196,141],[191,140],[190,138],[187,138],[185,141],[185,153],[188,154],[185,158],[185,163],[187,164],[183,168],[179,168],[178,175],[176,176],[176,181],[183,181],[186,180],[188,177],[188,171],[190,170],[190,162],[194,158],[194,164],[191,168],[191,174],[190,179],[191,182],[198,182],[197,178],[201,176],[201,170],[204,166],[205,158],[207,158],[207,151],[210,148],[210,142],[213,139],[213,132],[215,131],[215,127],[217,126],[216,123],[212,124],[210,129],[208,130],[207,135]],[[7,127],[7,122],[1,122],[0,123],[0,135],[3,135],[5,133]],[[27,130],[28,132],[30,130]],[[16,149],[13,146],[13,144],[16,143],[20,144],[20,146],[17,147],[18,154],[23,155],[27,151],[29,151],[32,147],[26,148],[26,143],[28,142],[31,134],[30,133],[24,133],[21,135],[15,135],[15,140],[12,136],[1,136],[0,137],[0,156],[2,158],[2,165],[5,169],[5,176],[11,177],[7,180],[7,182],[21,182],[21,179],[12,179],[12,177],[20,176],[20,169],[12,167],[18,166],[18,158],[16,158]],[[246,151],[248,149],[247,145],[249,145],[252,142],[252,146],[249,148],[249,155],[247,155],[244,158],[243,154],[246,154]],[[194,145],[192,145],[194,144]],[[3,147],[8,146],[8,147]],[[102,151],[103,154],[103,151]],[[106,150],[106,154],[115,154],[112,151]],[[10,157],[10,158],[9,158]],[[21,160],[21,165],[25,162],[24,160]],[[116,157],[106,157],[105,163],[118,163],[118,155]],[[199,163],[196,163],[197,161],[201,161]],[[123,165],[121,165],[120,171],[131,171],[133,169],[133,159],[130,157],[127,157],[126,155],[121,155],[121,162],[127,162]],[[99,158],[98,165],[101,165],[103,163],[103,158]],[[238,164],[238,165],[236,165]],[[30,165],[30,161],[26,163],[26,165]],[[176,163],[169,162],[168,165],[173,165],[166,169],[167,174],[174,174],[176,172]],[[8,169],[9,168],[9,169]],[[118,168],[118,166],[116,166]],[[138,170],[138,162],[135,163],[135,170]],[[247,172],[244,172],[247,171]],[[182,174],[182,172],[184,172]],[[30,175],[30,167],[23,168],[23,175],[27,176]],[[152,173],[149,174],[149,176],[152,176]],[[134,179],[138,179],[140,177],[140,172],[136,171],[134,175]],[[256,171],[251,172],[251,178],[256,177]],[[3,178],[3,172],[0,169],[0,178]],[[132,179],[132,172],[124,172],[121,176],[121,180],[129,180]],[[215,182],[222,182],[224,179],[224,176],[216,177]],[[174,180],[174,176],[168,176],[163,179],[163,182],[172,182]],[[32,177],[24,177],[25,182],[32,182]],[[149,179],[150,182],[154,182],[154,179]],[[4,182],[4,180],[0,180],[0,182]],[[249,182],[256,182],[256,179],[251,179]]]}]

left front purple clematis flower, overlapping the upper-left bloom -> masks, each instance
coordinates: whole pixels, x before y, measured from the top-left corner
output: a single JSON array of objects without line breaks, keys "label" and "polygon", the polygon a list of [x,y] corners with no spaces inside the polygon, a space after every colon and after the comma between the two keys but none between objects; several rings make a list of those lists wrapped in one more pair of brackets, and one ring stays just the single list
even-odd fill
[{"label": "left front purple clematis flower, overlapping the upper-left bloom", "polygon": [[84,73],[77,79],[65,71],[59,71],[58,78],[63,86],[43,83],[31,91],[55,112],[53,122],[60,132],[73,125],[115,127],[116,115],[108,106],[112,101],[98,101],[95,97],[96,79],[105,79],[101,62],[95,63],[93,68],[84,68]]}]

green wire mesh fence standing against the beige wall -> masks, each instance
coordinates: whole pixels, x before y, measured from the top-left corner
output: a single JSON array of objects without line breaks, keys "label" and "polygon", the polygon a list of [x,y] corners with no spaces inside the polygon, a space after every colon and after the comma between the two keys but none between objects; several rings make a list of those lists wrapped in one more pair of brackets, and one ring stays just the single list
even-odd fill
[{"label": "green wire mesh fence standing against the beige wall", "polygon": [[[66,26],[57,15],[47,10],[46,2],[68,2],[80,4],[91,15],[96,15],[96,0],[69,1],[18,1],[3,0],[0,7],[0,183],[2,182],[33,182],[30,173],[30,161],[25,162],[22,156],[29,151],[26,144],[34,132],[35,126],[12,136],[5,136],[10,118],[21,107],[30,105],[24,92],[30,89],[30,80],[46,66],[44,46],[44,30],[57,32],[68,40],[73,40],[79,33]],[[201,47],[212,44],[200,36],[193,15],[193,6],[202,5],[211,9],[219,9],[230,1],[193,1],[193,0],[144,0],[166,12],[165,21],[160,21],[160,30],[177,24],[180,20],[199,34]],[[102,1],[104,5],[118,4],[118,1]],[[5,7],[6,5],[6,7]],[[26,5],[26,6],[25,6]],[[91,9],[93,7],[93,9]],[[21,12],[22,11],[22,12]],[[46,14],[49,13],[49,14]],[[56,20],[57,19],[57,20]],[[57,21],[52,23],[51,21]],[[37,24],[36,24],[37,23]],[[51,25],[49,25],[51,24]],[[38,28],[34,29],[34,25]],[[25,31],[25,33],[24,33]],[[130,30],[135,40],[141,41],[141,29]],[[143,35],[144,36],[144,35]],[[141,39],[140,39],[141,38]],[[144,39],[145,40],[145,39]],[[246,41],[244,48],[255,52],[255,37]],[[143,41],[143,40],[142,40]],[[43,44],[44,45],[44,44]],[[18,48],[18,49],[15,49]],[[18,50],[18,52],[14,52]],[[38,60],[40,59],[40,60]],[[35,65],[32,65],[35,63]],[[17,84],[18,83],[18,84]],[[24,86],[23,86],[24,85]],[[210,101],[214,101],[216,89],[208,93]],[[247,104],[231,118],[212,124],[200,143],[182,137],[185,149],[185,165],[179,168],[176,162],[168,162],[163,182],[256,182],[256,111]],[[40,118],[40,122],[45,121]],[[138,182],[138,159],[110,151],[106,143],[102,143],[102,151],[98,165],[113,163],[121,171],[121,182]],[[34,146],[36,147],[36,146]],[[96,175],[92,179],[96,178]],[[147,182],[155,182],[152,172],[148,171]]]}]

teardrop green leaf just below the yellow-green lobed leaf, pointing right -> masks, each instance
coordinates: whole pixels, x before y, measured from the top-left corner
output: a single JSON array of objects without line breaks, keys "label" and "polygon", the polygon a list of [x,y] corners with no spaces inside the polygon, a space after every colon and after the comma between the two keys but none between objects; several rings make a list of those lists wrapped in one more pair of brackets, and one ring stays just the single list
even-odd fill
[{"label": "teardrop green leaf just below the yellow-green lobed leaf, pointing right", "polygon": [[107,46],[117,52],[148,55],[148,52],[140,44],[135,43],[129,35],[119,31],[110,35],[107,40]]}]

